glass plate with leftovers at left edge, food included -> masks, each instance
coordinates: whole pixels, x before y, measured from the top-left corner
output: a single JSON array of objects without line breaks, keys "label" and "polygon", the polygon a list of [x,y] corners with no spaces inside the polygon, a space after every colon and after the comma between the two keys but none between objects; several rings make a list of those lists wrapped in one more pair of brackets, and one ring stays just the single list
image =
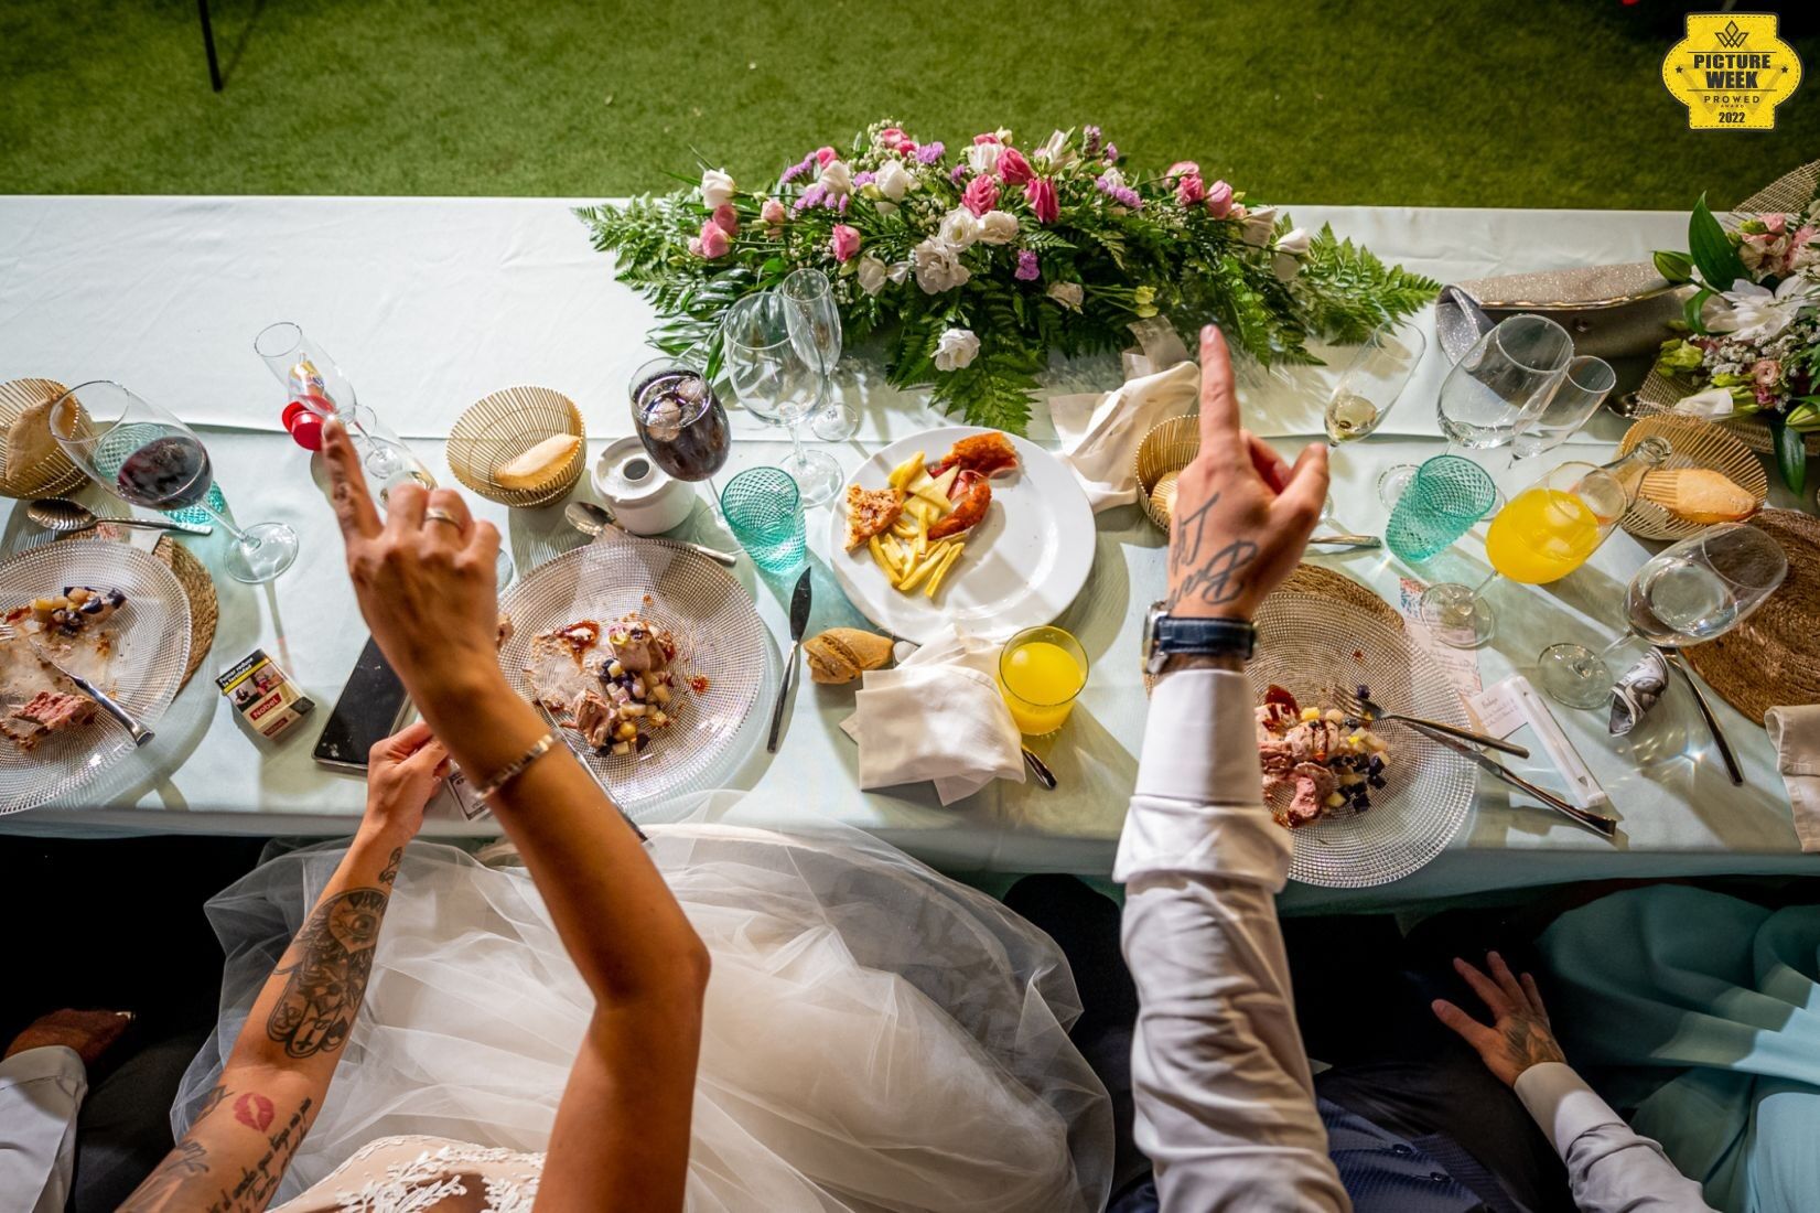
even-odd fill
[{"label": "glass plate with leftovers at left edge, food included", "polygon": [[66,796],[136,749],[66,672],[155,725],[187,661],[189,599],[151,554],[46,543],[0,565],[0,814]]}]

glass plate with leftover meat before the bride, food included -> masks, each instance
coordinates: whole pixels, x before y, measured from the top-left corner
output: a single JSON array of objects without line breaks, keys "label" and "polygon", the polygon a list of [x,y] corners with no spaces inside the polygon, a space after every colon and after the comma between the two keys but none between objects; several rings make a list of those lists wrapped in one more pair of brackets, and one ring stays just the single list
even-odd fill
[{"label": "glass plate with leftover meat before the bride, food included", "polygon": [[639,821],[719,787],[763,729],[770,634],[713,561],[604,535],[533,568],[499,601],[499,661]]}]

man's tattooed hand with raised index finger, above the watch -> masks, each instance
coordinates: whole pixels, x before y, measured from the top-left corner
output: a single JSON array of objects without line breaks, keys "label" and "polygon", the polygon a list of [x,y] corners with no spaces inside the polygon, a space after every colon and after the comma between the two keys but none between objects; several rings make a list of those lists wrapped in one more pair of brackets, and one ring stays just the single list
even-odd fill
[{"label": "man's tattooed hand with raised index finger, above the watch", "polygon": [[1201,330],[1201,454],[1176,488],[1168,541],[1168,612],[1250,619],[1290,574],[1327,499],[1327,448],[1289,466],[1239,428],[1227,341]]}]

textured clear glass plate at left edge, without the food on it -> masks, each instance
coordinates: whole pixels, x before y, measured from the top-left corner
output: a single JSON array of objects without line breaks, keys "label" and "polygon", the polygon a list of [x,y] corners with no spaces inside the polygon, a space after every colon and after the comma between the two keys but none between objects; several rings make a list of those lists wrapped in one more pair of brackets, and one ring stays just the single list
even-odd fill
[{"label": "textured clear glass plate at left edge, without the food on it", "polygon": [[[184,586],[162,561],[124,543],[47,543],[0,565],[0,614],[66,585],[126,594],[126,606],[102,625],[115,634],[115,650],[98,685],[153,727],[171,707],[189,663]],[[0,632],[11,628],[0,623]],[[95,681],[93,670],[78,672]],[[16,694],[0,694],[0,714],[22,701]],[[0,814],[66,796],[133,749],[126,727],[106,712],[96,712],[82,729],[51,734],[31,754],[0,738]]]}]

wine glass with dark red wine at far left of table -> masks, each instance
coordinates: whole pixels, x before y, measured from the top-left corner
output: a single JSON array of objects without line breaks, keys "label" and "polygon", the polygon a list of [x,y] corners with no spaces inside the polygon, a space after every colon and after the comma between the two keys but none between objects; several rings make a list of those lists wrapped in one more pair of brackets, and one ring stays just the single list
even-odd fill
[{"label": "wine glass with dark red wine at far left of table", "polygon": [[202,439],[151,401],[116,382],[84,382],[51,404],[51,437],[71,463],[122,501],[147,510],[202,506],[233,537],[228,576],[271,581],[297,559],[297,532],[284,523],[235,526],[209,505],[215,468]]}]

